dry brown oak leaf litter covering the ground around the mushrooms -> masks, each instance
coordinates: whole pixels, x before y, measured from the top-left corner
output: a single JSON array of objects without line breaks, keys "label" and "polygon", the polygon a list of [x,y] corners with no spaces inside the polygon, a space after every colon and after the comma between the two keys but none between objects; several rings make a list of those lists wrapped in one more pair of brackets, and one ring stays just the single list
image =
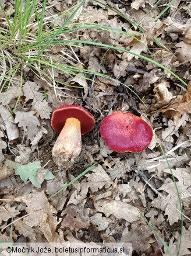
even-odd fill
[{"label": "dry brown oak leaf litter covering the ground around the mushrooms", "polygon": [[[87,1],[70,22],[89,22],[116,30],[81,29],[60,34],[59,39],[86,40],[143,54],[190,84],[190,3],[177,1],[175,8],[171,6],[153,22],[164,7],[161,4],[153,8],[156,2]],[[14,5],[6,6],[6,1],[2,4],[7,12],[14,12]],[[48,0],[45,15],[51,13],[52,26],[61,26],[63,20],[55,21],[54,15],[59,17],[74,4],[73,0]],[[31,27],[31,33],[36,30]],[[179,255],[190,255],[191,85],[186,88],[168,71],[132,54],[90,44],[79,46],[49,47],[48,54],[65,65],[67,53],[70,65],[118,81],[85,72],[68,75],[54,69],[52,76],[58,81],[54,87],[47,77],[26,68],[21,91],[20,75],[16,74],[17,82],[1,92],[0,239],[9,241],[13,218],[12,241],[22,236],[23,241],[30,242],[131,242],[133,255],[168,255],[141,212],[169,244],[173,255],[178,255],[181,208],[168,168],[171,165],[183,207]],[[49,75],[48,68],[42,68]],[[18,98],[14,115],[10,115]],[[96,124],[83,136],[82,153],[75,165],[65,171],[52,161],[51,150],[58,134],[52,130],[50,118],[57,106],[68,104],[82,105],[94,115]],[[115,153],[105,146],[99,134],[101,120],[116,110],[141,116],[153,127],[155,136],[143,153]],[[48,200],[94,162],[91,171]]]}]

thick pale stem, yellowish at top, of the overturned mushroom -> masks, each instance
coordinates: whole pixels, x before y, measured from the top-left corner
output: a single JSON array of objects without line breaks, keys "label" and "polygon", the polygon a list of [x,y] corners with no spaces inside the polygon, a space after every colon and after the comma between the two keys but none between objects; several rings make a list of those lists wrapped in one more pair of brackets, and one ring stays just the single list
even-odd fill
[{"label": "thick pale stem, yellowish at top, of the overturned mushroom", "polygon": [[59,167],[68,169],[75,162],[82,149],[80,121],[76,118],[66,119],[65,126],[54,144],[52,158]]}]

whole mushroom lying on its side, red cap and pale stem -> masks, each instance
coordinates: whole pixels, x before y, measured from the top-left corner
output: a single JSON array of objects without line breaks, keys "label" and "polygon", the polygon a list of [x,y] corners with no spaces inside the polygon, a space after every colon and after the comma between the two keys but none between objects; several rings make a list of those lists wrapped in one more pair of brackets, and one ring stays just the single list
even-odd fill
[{"label": "whole mushroom lying on its side, red cap and pale stem", "polygon": [[82,149],[82,135],[90,132],[95,119],[82,106],[59,106],[52,113],[51,126],[60,133],[52,149],[52,157],[59,167],[69,168]]}]

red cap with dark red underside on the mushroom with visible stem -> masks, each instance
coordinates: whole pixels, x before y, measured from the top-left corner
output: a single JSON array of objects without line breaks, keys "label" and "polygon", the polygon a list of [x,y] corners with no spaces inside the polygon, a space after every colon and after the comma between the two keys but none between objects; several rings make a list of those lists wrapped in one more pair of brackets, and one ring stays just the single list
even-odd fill
[{"label": "red cap with dark red underside on the mushroom with visible stem", "polygon": [[60,133],[63,126],[65,125],[66,119],[73,117],[80,121],[81,134],[90,132],[95,124],[93,115],[90,114],[82,106],[77,105],[64,105],[59,106],[52,113],[51,126],[52,128]]}]

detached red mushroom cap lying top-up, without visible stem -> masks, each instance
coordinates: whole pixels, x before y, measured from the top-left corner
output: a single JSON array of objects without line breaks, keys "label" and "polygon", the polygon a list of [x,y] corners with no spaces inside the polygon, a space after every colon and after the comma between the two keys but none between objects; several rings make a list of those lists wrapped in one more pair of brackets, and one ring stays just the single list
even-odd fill
[{"label": "detached red mushroom cap lying top-up, without visible stem", "polygon": [[143,119],[122,111],[102,120],[100,134],[105,144],[116,152],[141,152],[153,138],[151,127]]}]

